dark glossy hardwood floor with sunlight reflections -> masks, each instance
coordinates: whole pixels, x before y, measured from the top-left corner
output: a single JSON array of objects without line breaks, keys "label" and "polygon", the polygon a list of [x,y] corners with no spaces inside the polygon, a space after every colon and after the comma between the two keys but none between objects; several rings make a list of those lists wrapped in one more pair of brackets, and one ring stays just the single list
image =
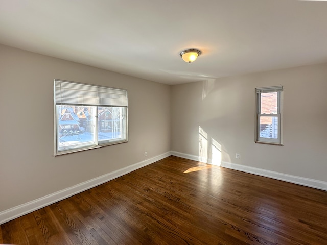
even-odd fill
[{"label": "dark glossy hardwood floor with sunlight reflections", "polygon": [[1,225],[5,244],[327,244],[327,192],[170,156]]}]

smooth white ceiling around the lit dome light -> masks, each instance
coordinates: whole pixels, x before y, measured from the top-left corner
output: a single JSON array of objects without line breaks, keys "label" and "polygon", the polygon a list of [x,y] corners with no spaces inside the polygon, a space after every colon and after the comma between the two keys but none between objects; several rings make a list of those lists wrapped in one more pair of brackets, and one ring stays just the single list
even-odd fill
[{"label": "smooth white ceiling around the lit dome light", "polygon": [[[0,43],[165,84],[204,81],[327,62],[327,1],[0,0]],[[185,63],[186,48],[202,54]]]}]

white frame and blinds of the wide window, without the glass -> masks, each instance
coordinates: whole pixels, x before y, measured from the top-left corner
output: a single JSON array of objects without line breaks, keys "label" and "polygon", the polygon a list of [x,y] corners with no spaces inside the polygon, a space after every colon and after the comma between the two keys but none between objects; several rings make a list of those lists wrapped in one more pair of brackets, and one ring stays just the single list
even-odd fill
[{"label": "white frame and blinds of the wide window, without the glass", "polygon": [[[128,142],[128,107],[127,90],[98,86],[85,83],[77,83],[65,80],[54,80],[54,138],[55,156],[67,153],[79,152],[103,146]],[[59,146],[59,119],[60,112],[57,106],[88,106],[95,108],[95,143],[80,143],[76,148],[70,146],[67,149]],[[123,120],[124,134],[119,139],[99,140],[98,139],[98,107],[119,107],[123,108],[125,117]],[[125,108],[125,109],[124,109]]]}]

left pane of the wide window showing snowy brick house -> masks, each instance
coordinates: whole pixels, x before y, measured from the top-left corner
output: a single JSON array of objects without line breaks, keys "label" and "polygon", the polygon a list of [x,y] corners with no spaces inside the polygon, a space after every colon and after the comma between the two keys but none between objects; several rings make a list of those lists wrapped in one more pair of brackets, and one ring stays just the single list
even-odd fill
[{"label": "left pane of the wide window showing snowy brick house", "polygon": [[95,145],[95,107],[56,106],[58,150]]}]

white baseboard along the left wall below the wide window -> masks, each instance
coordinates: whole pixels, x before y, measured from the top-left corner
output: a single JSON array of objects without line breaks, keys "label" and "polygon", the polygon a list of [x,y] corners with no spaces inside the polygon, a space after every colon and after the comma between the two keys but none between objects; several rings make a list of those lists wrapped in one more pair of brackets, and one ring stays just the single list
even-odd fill
[{"label": "white baseboard along the left wall below the wide window", "polygon": [[15,219],[15,218],[18,218],[25,214],[31,213],[40,208],[46,207],[50,204],[53,204],[53,203],[56,203],[63,199],[72,197],[72,195],[78,194],[82,191],[91,189],[93,187],[96,187],[98,185],[106,183],[110,180],[113,180],[120,176],[126,175],[138,168],[147,166],[151,163],[154,163],[156,161],[159,161],[161,159],[169,157],[170,155],[171,155],[171,152],[166,152],[166,153],[158,155],[156,157],[153,157],[153,158],[147,159],[145,161],[138,162],[133,165],[115,170],[111,173],[108,173],[108,174],[99,176],[97,178],[82,182],[82,183],[74,185],[72,187],[68,187],[66,189],[59,190],[59,191],[51,193],[49,195],[45,195],[42,198],[38,198],[38,199],[35,199],[28,203],[24,203],[24,204],[18,205],[16,207],[4,210],[4,211],[0,212],[0,225],[4,224],[12,219]]}]

